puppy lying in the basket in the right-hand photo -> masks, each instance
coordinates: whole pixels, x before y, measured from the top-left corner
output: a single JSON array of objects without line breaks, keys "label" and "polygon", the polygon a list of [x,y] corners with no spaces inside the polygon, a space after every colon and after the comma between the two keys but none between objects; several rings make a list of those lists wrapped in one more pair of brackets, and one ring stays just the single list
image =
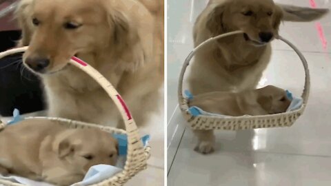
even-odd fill
[{"label": "puppy lying in the basket in the right-hand photo", "polygon": [[286,112],[290,99],[285,90],[268,85],[257,90],[243,92],[210,92],[194,96],[190,106],[227,116],[258,116]]}]

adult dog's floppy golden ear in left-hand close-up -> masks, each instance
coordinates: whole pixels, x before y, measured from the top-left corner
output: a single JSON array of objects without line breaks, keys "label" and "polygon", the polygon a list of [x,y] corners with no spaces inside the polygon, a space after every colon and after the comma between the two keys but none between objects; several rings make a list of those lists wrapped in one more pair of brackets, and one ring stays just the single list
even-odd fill
[{"label": "adult dog's floppy golden ear in left-hand close-up", "polygon": [[[141,22],[137,23],[137,20],[134,21],[137,18],[132,18],[132,13],[126,13],[129,10],[121,11],[116,8],[108,8],[106,11],[112,32],[110,45],[112,45],[113,52],[119,57],[118,61],[121,62],[121,67],[134,71],[145,61],[150,60],[152,56],[153,36],[151,30],[153,28],[150,25],[152,21],[147,18],[150,16],[152,19],[152,16],[146,9],[148,13],[146,21],[148,23],[143,23],[143,20],[139,20]],[[143,32],[143,30],[148,30],[148,32]]]}]

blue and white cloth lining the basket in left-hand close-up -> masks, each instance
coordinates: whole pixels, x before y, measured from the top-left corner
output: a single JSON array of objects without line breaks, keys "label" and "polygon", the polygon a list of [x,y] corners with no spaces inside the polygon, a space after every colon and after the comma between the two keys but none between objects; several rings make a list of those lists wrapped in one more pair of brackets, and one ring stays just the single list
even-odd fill
[{"label": "blue and white cloth lining the basket in left-hand close-up", "polygon": [[[19,114],[19,110],[15,109],[13,112],[12,120],[7,123],[7,125],[13,125],[18,123],[19,121],[23,121],[23,117]],[[110,178],[115,174],[123,171],[124,165],[126,163],[126,155],[128,154],[128,136],[125,134],[112,134],[114,138],[117,139],[119,143],[119,158],[117,160],[117,165],[94,165],[90,167],[88,173],[85,175],[83,180],[79,183],[74,183],[72,186],[87,186],[92,185],[94,183],[99,183],[106,178]],[[146,147],[148,142],[150,141],[150,135],[143,136],[141,138],[143,146]],[[26,185],[41,185],[48,186],[48,183],[40,183],[34,180],[28,180],[26,178],[20,178],[17,176],[1,176],[0,178],[4,178],[6,180],[11,180],[16,183],[23,183]]]}]

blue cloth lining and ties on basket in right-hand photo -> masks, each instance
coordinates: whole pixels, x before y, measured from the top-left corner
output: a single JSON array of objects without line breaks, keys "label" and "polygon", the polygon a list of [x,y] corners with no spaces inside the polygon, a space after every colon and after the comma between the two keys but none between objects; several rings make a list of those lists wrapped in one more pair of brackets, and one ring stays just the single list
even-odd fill
[{"label": "blue cloth lining and ties on basket in right-hand photo", "polygon": [[[189,90],[185,90],[185,95],[189,100],[194,98],[193,94]],[[301,107],[301,105],[303,103],[302,99],[292,96],[292,93],[288,90],[286,90],[286,95],[288,96],[288,99],[291,100],[290,106],[288,107],[288,110],[286,110],[286,112],[291,112],[291,111],[297,110]],[[196,107],[196,106],[192,106],[192,107],[188,108],[188,110],[189,110],[190,114],[192,114],[192,116],[205,115],[205,116],[232,117],[232,116],[226,116],[226,115],[222,115],[222,114],[214,114],[214,113],[210,113],[210,112],[205,112],[204,110],[202,110],[201,108]]]}]

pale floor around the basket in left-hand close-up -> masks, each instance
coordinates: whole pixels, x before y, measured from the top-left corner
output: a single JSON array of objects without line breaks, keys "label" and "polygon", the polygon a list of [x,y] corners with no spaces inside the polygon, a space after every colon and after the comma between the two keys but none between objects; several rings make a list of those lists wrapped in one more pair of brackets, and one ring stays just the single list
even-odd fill
[{"label": "pale floor around the basket in left-hand close-up", "polygon": [[[160,90],[163,95],[164,90]],[[148,169],[143,170],[126,183],[128,186],[163,186],[164,185],[164,106],[163,98],[160,99],[160,110],[150,116],[150,121],[145,127],[140,128],[141,136],[150,134],[151,156],[148,160]],[[45,116],[45,112],[35,112],[28,116]],[[0,116],[1,118],[1,116]],[[11,118],[1,118],[1,121],[9,121]]]}]

